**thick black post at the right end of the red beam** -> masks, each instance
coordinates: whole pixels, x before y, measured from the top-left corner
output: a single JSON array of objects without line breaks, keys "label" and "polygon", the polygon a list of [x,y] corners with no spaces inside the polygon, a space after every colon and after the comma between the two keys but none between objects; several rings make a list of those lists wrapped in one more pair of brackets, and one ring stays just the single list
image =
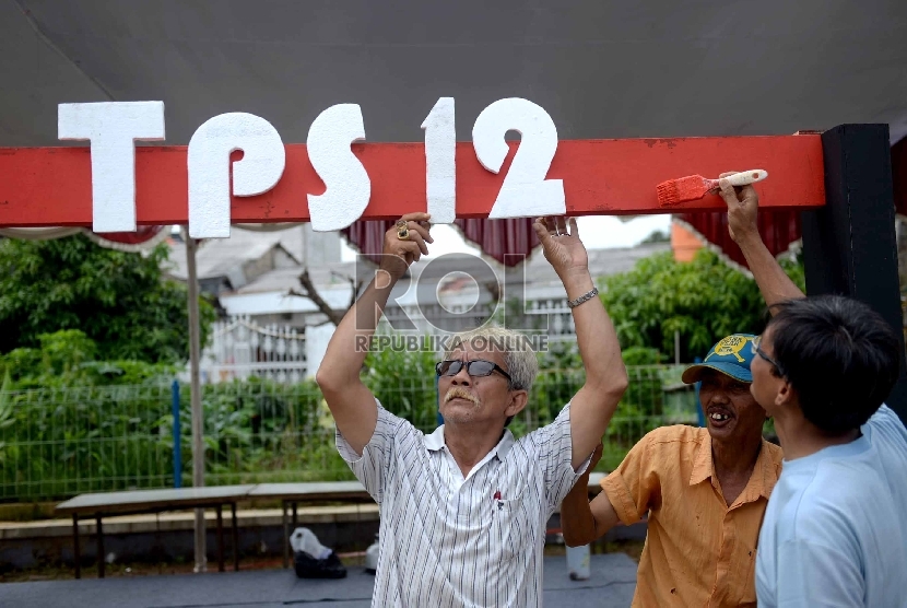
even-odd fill
[{"label": "thick black post at the right end of the red beam", "polygon": [[[887,125],[841,125],[822,133],[825,207],[803,212],[806,292],[860,300],[897,329],[904,352]],[[907,421],[907,366],[888,406]]]}]

